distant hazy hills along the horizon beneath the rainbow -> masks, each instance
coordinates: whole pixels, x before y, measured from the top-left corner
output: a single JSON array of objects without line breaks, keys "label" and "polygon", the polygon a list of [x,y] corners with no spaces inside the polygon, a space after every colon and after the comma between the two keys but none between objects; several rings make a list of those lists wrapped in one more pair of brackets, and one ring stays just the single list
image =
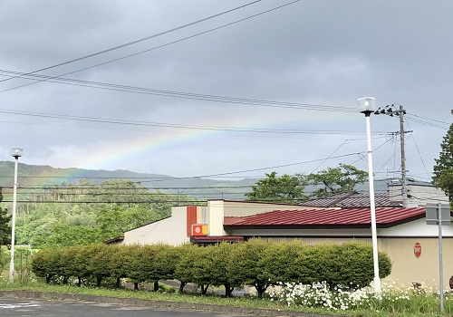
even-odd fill
[{"label": "distant hazy hills along the horizon beneath the rainbow", "polygon": [[[244,200],[244,194],[251,191],[259,178],[238,180],[216,180],[206,178],[174,178],[162,174],[136,173],[129,170],[95,170],[83,168],[53,168],[50,166],[19,163],[18,183],[20,187],[43,187],[62,184],[77,184],[86,179],[92,184],[101,184],[110,179],[130,179],[140,182],[149,189],[159,189],[168,194],[181,194],[202,199]],[[376,192],[387,191],[386,179],[375,180]],[[14,162],[0,161],[0,187],[4,195],[14,185]],[[368,183],[356,187],[359,192],[368,192]],[[307,187],[307,191],[311,191]]]}]

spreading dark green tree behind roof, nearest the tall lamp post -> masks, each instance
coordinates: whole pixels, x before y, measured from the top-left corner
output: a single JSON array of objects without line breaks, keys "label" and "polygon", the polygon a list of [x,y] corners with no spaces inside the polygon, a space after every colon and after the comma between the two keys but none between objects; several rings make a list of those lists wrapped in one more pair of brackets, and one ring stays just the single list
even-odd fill
[{"label": "spreading dark green tree behind roof, nearest the tall lamp post", "polygon": [[317,187],[312,197],[323,197],[329,194],[351,191],[358,184],[364,183],[368,173],[352,165],[339,164],[338,168],[327,168],[304,178],[307,185]]}]

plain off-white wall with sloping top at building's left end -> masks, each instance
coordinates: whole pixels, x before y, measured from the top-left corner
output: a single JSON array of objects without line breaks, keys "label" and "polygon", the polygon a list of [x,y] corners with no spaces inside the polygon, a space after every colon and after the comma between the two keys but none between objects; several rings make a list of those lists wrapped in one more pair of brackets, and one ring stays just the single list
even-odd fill
[{"label": "plain off-white wall with sloping top at building's left end", "polygon": [[121,245],[181,245],[188,241],[187,207],[172,207],[169,218],[126,231]]}]

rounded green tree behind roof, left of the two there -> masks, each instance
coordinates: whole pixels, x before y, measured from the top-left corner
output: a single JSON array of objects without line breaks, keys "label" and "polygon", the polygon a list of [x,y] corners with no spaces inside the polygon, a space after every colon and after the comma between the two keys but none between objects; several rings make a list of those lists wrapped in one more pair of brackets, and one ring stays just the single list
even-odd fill
[{"label": "rounded green tree behind roof, left of the two there", "polygon": [[252,201],[265,201],[274,203],[294,203],[304,200],[304,185],[300,178],[284,174],[278,178],[276,172],[265,174],[266,178],[260,179],[252,186],[252,192],[246,193],[246,199]]}]

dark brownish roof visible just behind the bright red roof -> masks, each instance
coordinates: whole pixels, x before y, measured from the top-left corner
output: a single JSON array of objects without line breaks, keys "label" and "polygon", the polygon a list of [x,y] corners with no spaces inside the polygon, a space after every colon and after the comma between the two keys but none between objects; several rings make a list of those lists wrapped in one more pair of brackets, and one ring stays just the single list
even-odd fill
[{"label": "dark brownish roof visible just behind the bright red roof", "polygon": [[[354,191],[338,193],[321,198],[306,200],[299,205],[308,207],[342,207],[342,208],[369,208],[370,194]],[[400,201],[390,200],[389,193],[375,193],[374,206],[401,207]]]}]

